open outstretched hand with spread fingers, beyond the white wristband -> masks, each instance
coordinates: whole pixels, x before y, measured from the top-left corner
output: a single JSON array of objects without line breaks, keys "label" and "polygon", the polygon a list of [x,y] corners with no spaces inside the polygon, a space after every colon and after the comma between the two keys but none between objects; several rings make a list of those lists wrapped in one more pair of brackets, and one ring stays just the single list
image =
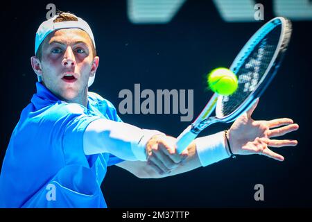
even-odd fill
[{"label": "open outstretched hand with spread fingers, beyond the white wristband", "polygon": [[258,103],[259,99],[245,114],[236,119],[229,129],[228,138],[232,153],[238,155],[261,154],[283,161],[282,155],[271,151],[268,147],[296,146],[297,140],[271,138],[295,131],[299,126],[288,118],[270,121],[252,119],[252,112]]}]

